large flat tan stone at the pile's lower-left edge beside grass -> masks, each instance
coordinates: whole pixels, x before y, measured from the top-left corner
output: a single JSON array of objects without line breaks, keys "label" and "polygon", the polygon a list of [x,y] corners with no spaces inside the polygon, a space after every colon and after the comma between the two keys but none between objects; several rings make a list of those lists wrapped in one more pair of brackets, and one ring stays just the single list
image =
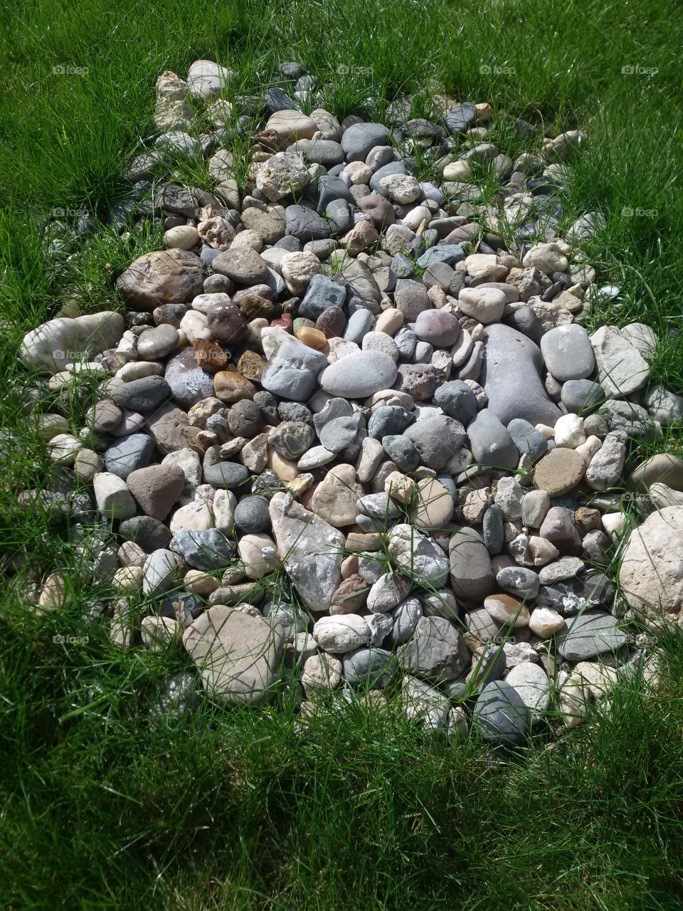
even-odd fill
[{"label": "large flat tan stone at the pile's lower-left edge beside grass", "polygon": [[183,645],[212,699],[258,704],[272,694],[284,648],[280,624],[215,605],[185,630]]}]

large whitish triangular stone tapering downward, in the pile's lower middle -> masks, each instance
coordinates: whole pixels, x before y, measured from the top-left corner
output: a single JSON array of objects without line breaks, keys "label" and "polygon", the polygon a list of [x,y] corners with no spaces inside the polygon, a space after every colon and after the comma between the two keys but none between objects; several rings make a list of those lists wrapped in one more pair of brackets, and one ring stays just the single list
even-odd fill
[{"label": "large whitish triangular stone tapering downward, in the pile's lower middle", "polygon": [[270,521],[278,554],[301,600],[313,611],[329,610],[342,582],[344,535],[291,494],[272,497]]}]

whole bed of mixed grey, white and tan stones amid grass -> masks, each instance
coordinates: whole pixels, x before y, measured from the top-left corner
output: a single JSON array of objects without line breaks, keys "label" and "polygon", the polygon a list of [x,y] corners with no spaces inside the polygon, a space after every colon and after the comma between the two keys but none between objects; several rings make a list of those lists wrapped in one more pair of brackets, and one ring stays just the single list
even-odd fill
[{"label": "whole bed of mixed grey, white and tan stones amid grass", "polygon": [[[257,99],[226,100],[210,61],[159,78],[158,134],[112,219],[163,220],[165,249],[118,276],[125,314],[72,308],[25,336],[62,488],[22,496],[85,523],[114,640],[186,650],[211,699],[264,701],[286,676],[311,711],[392,681],[392,704],[449,735],[580,722],[620,674],[656,681],[625,619],[678,624],[683,604],[683,462],[629,455],[683,402],[649,382],[649,326],[582,325],[618,295],[581,249],[601,216],[557,234],[586,139],[509,118],[540,149],[511,160],[489,141],[505,115],[444,97],[438,123],[399,104],[340,124],[281,73],[291,95]],[[187,157],[210,191],[174,176]],[[72,427],[80,374],[99,401]],[[65,598],[53,573],[36,601]]]}]

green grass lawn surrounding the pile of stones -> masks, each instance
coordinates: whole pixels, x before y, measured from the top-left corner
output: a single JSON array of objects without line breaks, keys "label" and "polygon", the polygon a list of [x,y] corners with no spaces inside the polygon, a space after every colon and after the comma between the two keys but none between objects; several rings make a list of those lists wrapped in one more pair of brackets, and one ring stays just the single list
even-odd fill
[{"label": "green grass lawn surrounding the pile of stones", "polygon": [[[263,711],[199,701],[165,719],[148,711],[158,681],[186,664],[112,646],[88,618],[115,596],[77,565],[76,529],[17,496],[46,483],[48,465],[16,360],[23,334],[71,299],[84,311],[116,305],[112,276],[159,244],[158,225],[128,238],[99,227],[49,251],[46,219],[97,215],[122,197],[122,171],[151,132],[158,74],[182,76],[200,56],[233,68],[234,96],[269,84],[278,61],[300,60],[339,118],[382,118],[406,92],[413,114],[429,115],[434,80],[552,133],[582,128],[562,228],[602,211],[586,253],[598,280],[622,289],[591,322],[650,323],[653,378],[683,393],[683,102],[668,6],[38,0],[0,15],[0,540],[18,570],[0,612],[4,905],[678,907],[678,638],[662,642],[656,698],[624,682],[552,748],[539,738],[502,756],[426,737],[361,700],[335,701],[306,726],[285,692]],[[514,156],[504,121],[495,139]],[[246,148],[236,151],[242,162]],[[61,403],[76,425],[92,396],[80,385]],[[680,452],[680,435],[654,447]],[[55,568],[66,568],[70,603],[38,617],[22,587]]]}]

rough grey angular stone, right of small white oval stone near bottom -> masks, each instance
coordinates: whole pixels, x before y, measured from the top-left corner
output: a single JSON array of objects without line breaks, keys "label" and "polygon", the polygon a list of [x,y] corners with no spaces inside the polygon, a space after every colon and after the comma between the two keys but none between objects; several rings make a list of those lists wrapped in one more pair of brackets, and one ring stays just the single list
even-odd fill
[{"label": "rough grey angular stone, right of small white oval stone near bottom", "polygon": [[403,646],[400,662],[405,670],[426,680],[448,681],[459,677],[470,661],[463,634],[445,617],[421,617],[413,638]]}]

